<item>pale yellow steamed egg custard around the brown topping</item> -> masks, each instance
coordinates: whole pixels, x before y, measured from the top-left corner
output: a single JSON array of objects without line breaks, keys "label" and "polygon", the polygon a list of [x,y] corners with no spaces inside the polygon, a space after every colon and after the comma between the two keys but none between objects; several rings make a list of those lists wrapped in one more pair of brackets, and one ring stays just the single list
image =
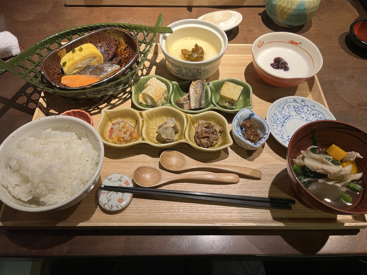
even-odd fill
[{"label": "pale yellow steamed egg custard around the brown topping", "polygon": [[199,45],[204,50],[203,61],[215,58],[218,55],[217,49],[208,41],[201,40],[199,38],[188,37],[175,41],[168,49],[168,54],[179,60],[186,61],[185,57],[181,54],[181,49],[189,49],[195,47],[195,44]]}]

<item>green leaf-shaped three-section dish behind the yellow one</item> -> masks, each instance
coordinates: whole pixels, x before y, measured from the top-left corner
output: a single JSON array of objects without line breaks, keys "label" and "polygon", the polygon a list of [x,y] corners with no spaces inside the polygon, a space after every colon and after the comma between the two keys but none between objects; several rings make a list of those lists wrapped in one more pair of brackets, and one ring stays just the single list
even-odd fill
[{"label": "green leaf-shaped three-section dish behind the yellow one", "polygon": [[[159,81],[163,82],[167,86],[167,97],[164,100],[163,106],[172,106],[176,109],[183,111],[188,114],[198,114],[208,110],[220,110],[226,113],[237,113],[243,108],[252,108],[254,105],[252,104],[252,88],[245,81],[236,79],[236,78],[225,78],[220,80],[213,80],[207,82],[205,84],[205,107],[201,110],[184,110],[177,106],[176,101],[179,98],[182,98],[185,94],[188,93],[191,81],[185,81],[181,83],[177,83],[175,81],[167,80],[166,78],[160,76],[143,76],[140,78],[135,78],[132,82],[132,102],[135,106],[137,106],[141,110],[148,110],[154,108],[150,105],[145,105],[139,102],[139,94],[145,89],[145,84],[152,77],[156,77]],[[219,101],[219,91],[223,84],[228,81],[233,84],[239,85],[243,87],[241,98],[235,109],[229,109],[223,106],[218,105]]]}]

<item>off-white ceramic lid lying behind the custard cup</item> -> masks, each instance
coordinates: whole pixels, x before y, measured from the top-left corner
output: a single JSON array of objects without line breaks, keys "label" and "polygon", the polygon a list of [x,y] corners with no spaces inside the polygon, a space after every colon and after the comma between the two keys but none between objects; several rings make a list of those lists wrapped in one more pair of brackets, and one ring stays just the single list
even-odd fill
[{"label": "off-white ceramic lid lying behind the custard cup", "polygon": [[197,18],[211,22],[225,32],[237,27],[242,21],[242,15],[237,11],[214,11]]}]

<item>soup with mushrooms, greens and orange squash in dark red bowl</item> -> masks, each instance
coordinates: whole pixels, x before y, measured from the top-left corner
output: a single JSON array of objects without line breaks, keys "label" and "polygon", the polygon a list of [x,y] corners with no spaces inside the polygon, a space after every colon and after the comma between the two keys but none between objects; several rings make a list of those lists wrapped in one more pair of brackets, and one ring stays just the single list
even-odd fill
[{"label": "soup with mushrooms, greens and orange squash in dark red bowl", "polygon": [[313,128],[313,144],[293,160],[298,180],[316,198],[338,209],[349,209],[361,199],[362,173],[358,172],[357,152],[345,152],[337,144],[319,146]]}]

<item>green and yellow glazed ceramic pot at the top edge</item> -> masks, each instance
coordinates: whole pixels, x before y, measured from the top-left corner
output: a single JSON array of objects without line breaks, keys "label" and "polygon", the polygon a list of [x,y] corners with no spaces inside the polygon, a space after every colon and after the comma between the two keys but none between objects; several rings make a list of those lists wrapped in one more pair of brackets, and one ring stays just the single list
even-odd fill
[{"label": "green and yellow glazed ceramic pot at the top edge", "polygon": [[281,27],[294,27],[310,21],[321,0],[266,0],[265,10]]}]

